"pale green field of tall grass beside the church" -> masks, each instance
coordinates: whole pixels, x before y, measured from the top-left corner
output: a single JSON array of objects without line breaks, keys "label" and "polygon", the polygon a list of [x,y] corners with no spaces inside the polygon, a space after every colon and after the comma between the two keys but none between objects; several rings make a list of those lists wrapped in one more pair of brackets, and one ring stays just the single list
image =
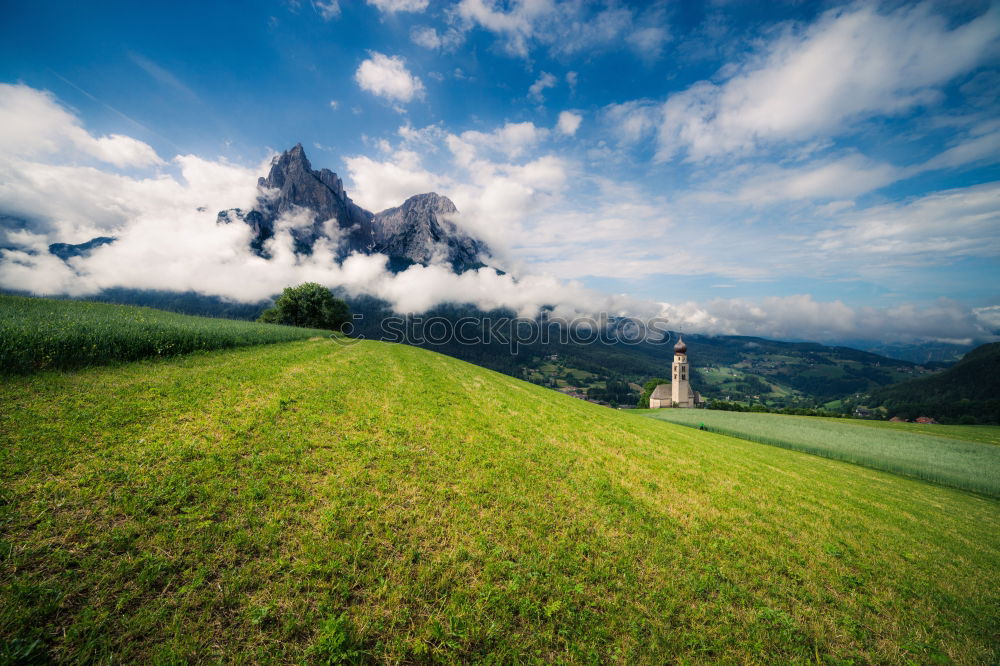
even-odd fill
[{"label": "pale green field of tall grass beside the church", "polygon": [[[970,428],[964,437],[940,437],[935,430],[864,427],[849,419],[821,419],[711,409],[655,409],[633,412],[686,426],[844,460],[1000,498],[1000,447],[988,440],[994,429]],[[903,424],[911,425],[911,424]]]}]

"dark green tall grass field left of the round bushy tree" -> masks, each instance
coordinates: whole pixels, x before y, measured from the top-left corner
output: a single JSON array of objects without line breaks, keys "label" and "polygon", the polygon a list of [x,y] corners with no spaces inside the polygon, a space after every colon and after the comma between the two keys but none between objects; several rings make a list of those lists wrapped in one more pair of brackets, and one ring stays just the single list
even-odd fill
[{"label": "dark green tall grass field left of the round bushy tree", "polygon": [[0,294],[0,373],[80,368],[330,334],[152,308]]}]

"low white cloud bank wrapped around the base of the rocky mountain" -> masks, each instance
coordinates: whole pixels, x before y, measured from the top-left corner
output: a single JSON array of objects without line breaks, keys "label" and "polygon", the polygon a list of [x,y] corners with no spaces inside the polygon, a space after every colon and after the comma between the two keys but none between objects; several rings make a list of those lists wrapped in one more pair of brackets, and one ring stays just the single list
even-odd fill
[{"label": "low white cloud bank wrapped around the base of the rocky mountain", "polygon": [[[133,138],[91,135],[52,95],[23,85],[0,85],[0,155],[0,288],[7,290],[70,296],[112,287],[190,290],[250,302],[315,281],[385,299],[409,313],[447,302],[523,316],[553,307],[564,317],[666,316],[672,327],[690,332],[826,341],[981,340],[1000,328],[1000,307],[970,310],[950,301],[890,310],[805,295],[759,303],[654,303],[548,275],[515,278],[488,268],[455,275],[431,265],[392,273],[381,255],[352,255],[338,264],[328,242],[318,242],[311,256],[296,255],[294,216],[279,222],[268,241],[272,258],[265,260],[250,250],[249,227],[217,224],[216,213],[252,206],[267,161],[246,167],[178,155],[168,162]],[[510,178],[492,175],[501,182]],[[472,187],[488,191],[490,183],[456,184]],[[51,243],[97,236],[117,240],[67,261],[48,251]]]}]

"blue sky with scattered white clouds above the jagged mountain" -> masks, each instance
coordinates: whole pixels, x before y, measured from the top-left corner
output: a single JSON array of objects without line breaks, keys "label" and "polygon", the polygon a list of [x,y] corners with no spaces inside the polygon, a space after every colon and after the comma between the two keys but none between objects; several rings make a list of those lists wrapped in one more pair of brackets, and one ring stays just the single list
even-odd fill
[{"label": "blue sky with scattered white clouds above the jagged mountain", "polygon": [[366,207],[435,189],[515,273],[694,327],[1000,327],[996,5],[147,5],[5,8],[0,82],[158,156],[91,168],[259,171],[301,142]]}]

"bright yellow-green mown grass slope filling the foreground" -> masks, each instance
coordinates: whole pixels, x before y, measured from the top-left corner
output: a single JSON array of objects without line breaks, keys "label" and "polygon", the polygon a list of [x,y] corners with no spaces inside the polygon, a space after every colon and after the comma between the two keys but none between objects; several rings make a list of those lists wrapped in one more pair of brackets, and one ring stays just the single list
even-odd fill
[{"label": "bright yellow-green mown grass slope filling the foreground", "polygon": [[0,384],[0,661],[993,663],[1000,504],[329,340]]}]

